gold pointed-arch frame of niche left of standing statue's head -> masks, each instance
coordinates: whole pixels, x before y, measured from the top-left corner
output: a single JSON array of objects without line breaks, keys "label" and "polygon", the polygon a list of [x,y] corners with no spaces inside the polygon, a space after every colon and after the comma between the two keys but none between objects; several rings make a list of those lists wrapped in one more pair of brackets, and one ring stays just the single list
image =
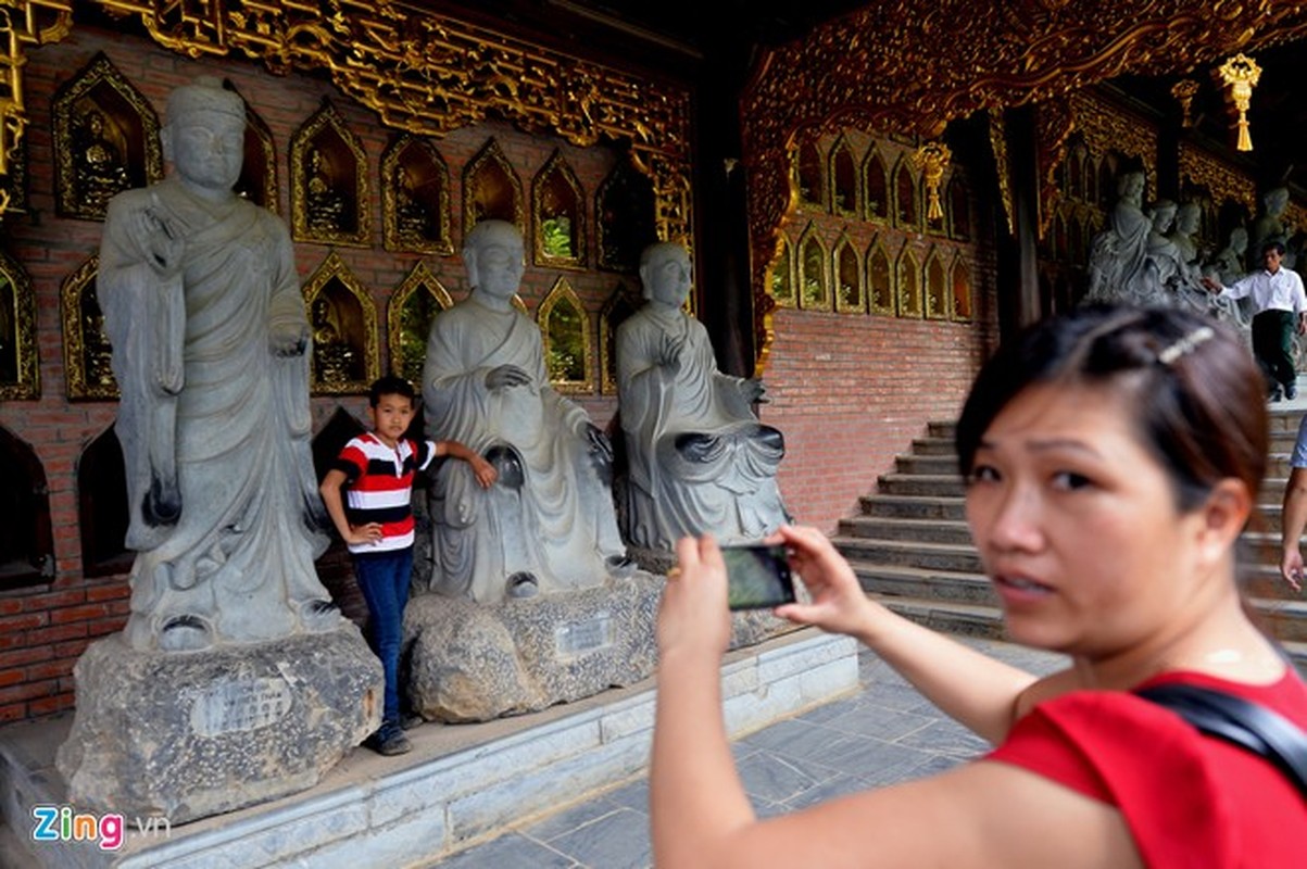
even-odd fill
[{"label": "gold pointed-arch frame of niche left of standing statue's head", "polygon": [[108,199],[89,201],[78,188],[74,157],[77,125],[85,114],[98,111],[106,136],[119,150],[125,172],[119,189],[145,187],[163,179],[163,146],[159,118],[149,101],[112,64],[105,52],[91,57],[64,82],[50,107],[54,118],[55,210],[61,217],[105,220]]}]

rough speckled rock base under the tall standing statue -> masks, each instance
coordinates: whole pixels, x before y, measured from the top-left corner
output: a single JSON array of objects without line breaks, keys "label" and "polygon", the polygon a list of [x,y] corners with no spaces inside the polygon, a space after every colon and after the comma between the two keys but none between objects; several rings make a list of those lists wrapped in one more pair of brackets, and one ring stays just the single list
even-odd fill
[{"label": "rough speckled rock base under the tall standing statue", "polygon": [[200,652],[115,634],[73,676],[69,802],[171,825],[311,788],[380,725],[382,665],[353,625]]}]

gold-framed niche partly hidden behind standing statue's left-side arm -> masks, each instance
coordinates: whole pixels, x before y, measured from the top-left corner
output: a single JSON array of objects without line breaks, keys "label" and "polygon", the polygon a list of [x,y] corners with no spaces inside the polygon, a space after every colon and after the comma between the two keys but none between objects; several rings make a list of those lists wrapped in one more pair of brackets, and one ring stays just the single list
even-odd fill
[{"label": "gold-framed niche partly hidden behind standing statue's left-side arm", "polygon": [[64,382],[69,401],[112,401],[119,397],[110,369],[111,349],[105,315],[95,295],[99,254],[77,267],[59,287],[64,325]]}]

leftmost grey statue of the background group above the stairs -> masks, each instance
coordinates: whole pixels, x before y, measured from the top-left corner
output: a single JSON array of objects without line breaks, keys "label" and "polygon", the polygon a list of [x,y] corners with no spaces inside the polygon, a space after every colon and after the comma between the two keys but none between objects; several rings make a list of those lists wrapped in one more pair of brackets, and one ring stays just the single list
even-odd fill
[{"label": "leftmost grey statue of the background group above the stairs", "polygon": [[1107,227],[1090,243],[1086,302],[1142,302],[1149,294],[1144,272],[1153,221],[1144,213],[1144,172],[1117,178]]}]

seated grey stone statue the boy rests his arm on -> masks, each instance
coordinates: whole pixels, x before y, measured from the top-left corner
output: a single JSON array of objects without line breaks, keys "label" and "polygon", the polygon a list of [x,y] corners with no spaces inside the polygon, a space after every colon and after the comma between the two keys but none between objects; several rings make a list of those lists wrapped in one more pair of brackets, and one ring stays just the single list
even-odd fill
[{"label": "seated grey stone statue the boy rests his arm on", "polygon": [[422,370],[430,436],[461,440],[499,472],[490,489],[464,461],[435,472],[431,588],[493,602],[627,575],[609,490],[612,447],[549,383],[540,328],[512,306],[521,233],[477,223],[463,244],[472,293],[431,323]]}]

